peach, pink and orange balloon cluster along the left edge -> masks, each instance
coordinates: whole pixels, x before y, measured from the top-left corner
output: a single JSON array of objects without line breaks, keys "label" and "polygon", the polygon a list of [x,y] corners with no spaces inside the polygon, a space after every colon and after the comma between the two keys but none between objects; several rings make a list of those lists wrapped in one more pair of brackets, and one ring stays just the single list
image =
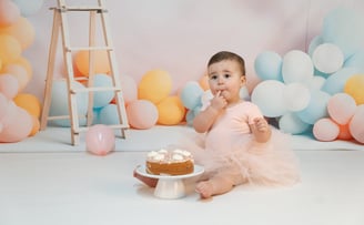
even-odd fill
[{"label": "peach, pink and orange balloon cluster along the left edge", "polygon": [[22,55],[34,41],[34,28],[27,17],[41,8],[42,0],[0,0],[0,142],[19,142],[39,131],[40,101],[23,93],[32,67]]}]

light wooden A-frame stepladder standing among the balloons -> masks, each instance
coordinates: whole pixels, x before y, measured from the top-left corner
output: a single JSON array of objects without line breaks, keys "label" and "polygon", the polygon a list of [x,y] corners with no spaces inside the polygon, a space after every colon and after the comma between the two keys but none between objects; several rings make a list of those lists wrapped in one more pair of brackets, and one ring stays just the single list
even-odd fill
[{"label": "light wooden A-frame stepladder standing among the balloons", "polygon": [[[124,100],[122,96],[121,83],[119,71],[117,67],[115,53],[112,45],[112,40],[110,37],[109,28],[109,18],[108,10],[105,9],[104,0],[98,0],[98,4],[90,7],[70,7],[65,4],[64,0],[58,0],[58,7],[51,8],[53,10],[53,27],[52,27],[52,37],[51,44],[49,50],[49,60],[48,60],[48,71],[46,80],[46,90],[44,90],[44,100],[43,109],[41,115],[40,130],[47,127],[48,121],[50,120],[64,120],[70,119],[71,123],[71,140],[73,145],[79,144],[79,134],[80,132],[85,132],[92,124],[93,117],[93,92],[102,91],[113,91],[115,104],[118,106],[119,113],[119,124],[109,124],[108,126],[112,129],[121,129],[121,136],[125,139],[125,131],[129,129]],[[89,12],[90,13],[90,27],[89,27],[89,45],[87,47],[70,47],[70,32],[67,14],[69,12]],[[104,45],[95,45],[95,19],[97,14],[100,14],[101,27],[103,33]],[[68,91],[68,102],[69,102],[69,115],[60,116],[50,116],[50,104],[52,95],[52,84],[54,81],[54,62],[57,54],[58,39],[61,31],[62,37],[62,49],[63,49],[63,60],[67,69],[67,91]],[[94,51],[107,51],[110,65],[110,76],[112,78],[112,86],[93,86],[93,75],[94,75]],[[73,60],[72,53],[75,51],[89,51],[89,78],[87,79],[87,86],[84,89],[79,89],[74,85],[77,78],[74,76],[73,71]],[[89,104],[87,113],[87,126],[80,126],[79,124],[79,114],[78,114],[78,103],[77,103],[77,93],[88,92],[89,94]]]}]

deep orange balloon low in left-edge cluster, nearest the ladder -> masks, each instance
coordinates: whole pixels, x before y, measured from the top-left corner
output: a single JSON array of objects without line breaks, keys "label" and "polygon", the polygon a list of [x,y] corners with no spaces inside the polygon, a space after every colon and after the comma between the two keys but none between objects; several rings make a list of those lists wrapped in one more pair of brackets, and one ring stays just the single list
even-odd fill
[{"label": "deep orange balloon low in left-edge cluster, nearest the ladder", "polygon": [[41,103],[33,94],[20,93],[13,99],[14,103],[24,109],[29,114],[39,117],[41,112]]}]

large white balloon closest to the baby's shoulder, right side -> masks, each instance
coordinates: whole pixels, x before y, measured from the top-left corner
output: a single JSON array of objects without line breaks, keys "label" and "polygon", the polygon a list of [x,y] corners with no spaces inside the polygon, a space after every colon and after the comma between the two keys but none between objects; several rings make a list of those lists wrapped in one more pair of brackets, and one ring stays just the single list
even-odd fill
[{"label": "large white balloon closest to the baby's shoulder, right side", "polygon": [[284,101],[285,85],[275,80],[259,83],[252,92],[252,102],[255,103],[267,117],[285,114],[287,108]]}]

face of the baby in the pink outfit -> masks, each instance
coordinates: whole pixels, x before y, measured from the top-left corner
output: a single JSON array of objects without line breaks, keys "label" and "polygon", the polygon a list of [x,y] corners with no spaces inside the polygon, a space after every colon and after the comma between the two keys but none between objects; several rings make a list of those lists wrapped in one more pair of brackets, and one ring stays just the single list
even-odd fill
[{"label": "face of the baby in the pink outfit", "polygon": [[239,63],[233,60],[223,60],[208,68],[209,85],[215,95],[220,92],[228,103],[240,101],[240,89],[245,83]]}]

